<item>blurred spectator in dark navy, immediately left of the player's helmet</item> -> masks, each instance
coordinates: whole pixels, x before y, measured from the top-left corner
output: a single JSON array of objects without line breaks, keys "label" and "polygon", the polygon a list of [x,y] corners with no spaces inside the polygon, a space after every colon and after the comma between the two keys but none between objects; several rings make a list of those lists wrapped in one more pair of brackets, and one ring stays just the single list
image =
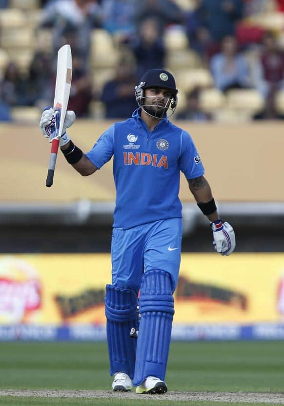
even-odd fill
[{"label": "blurred spectator in dark navy, immediately left of the player's helmet", "polygon": [[104,85],[101,101],[106,108],[105,118],[125,118],[138,107],[133,97],[137,84],[134,72],[134,64],[122,59],[116,77]]}]

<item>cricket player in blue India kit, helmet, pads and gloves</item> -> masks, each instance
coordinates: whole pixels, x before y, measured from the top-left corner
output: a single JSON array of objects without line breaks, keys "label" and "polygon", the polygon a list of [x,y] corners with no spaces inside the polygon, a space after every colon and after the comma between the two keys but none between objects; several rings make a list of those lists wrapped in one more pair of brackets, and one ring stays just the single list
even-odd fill
[{"label": "cricket player in blue India kit, helmet, pads and gloves", "polygon": [[[177,93],[170,72],[150,69],[135,87],[138,108],[132,117],[108,128],[89,152],[83,153],[66,133],[75,121],[73,111],[67,111],[60,140],[67,162],[82,176],[114,157],[112,284],[106,285],[105,315],[115,391],[129,391],[133,385],[137,393],[167,391],[164,379],[183,235],[181,171],[210,222],[216,251],[227,256],[235,248],[233,228],[219,218],[193,140],[168,120]],[[43,111],[40,127],[45,137],[56,131],[58,119],[53,108]],[[138,325],[136,340],[130,331]]]}]

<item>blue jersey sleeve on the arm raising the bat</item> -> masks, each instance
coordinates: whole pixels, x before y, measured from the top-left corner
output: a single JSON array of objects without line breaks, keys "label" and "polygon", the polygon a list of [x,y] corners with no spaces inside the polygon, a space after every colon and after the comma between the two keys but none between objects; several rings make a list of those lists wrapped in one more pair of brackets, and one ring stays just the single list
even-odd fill
[{"label": "blue jersey sleeve on the arm raising the bat", "polygon": [[110,160],[114,150],[114,128],[108,128],[95,143],[94,147],[86,153],[86,157],[100,169]]}]

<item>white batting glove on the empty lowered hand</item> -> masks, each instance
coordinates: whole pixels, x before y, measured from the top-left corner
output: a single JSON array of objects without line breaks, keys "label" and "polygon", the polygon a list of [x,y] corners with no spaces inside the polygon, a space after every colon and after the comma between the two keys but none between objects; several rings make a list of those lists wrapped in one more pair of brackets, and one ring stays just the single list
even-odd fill
[{"label": "white batting glove on the empty lowered hand", "polygon": [[230,255],[236,247],[236,237],[233,227],[226,221],[217,220],[210,223],[213,231],[213,245],[221,255]]}]

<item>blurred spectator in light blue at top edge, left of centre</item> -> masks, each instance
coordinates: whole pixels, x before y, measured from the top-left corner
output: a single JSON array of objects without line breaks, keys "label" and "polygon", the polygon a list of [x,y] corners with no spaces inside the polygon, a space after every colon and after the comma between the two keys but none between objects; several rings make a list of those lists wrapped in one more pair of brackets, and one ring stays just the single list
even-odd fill
[{"label": "blurred spectator in light blue at top edge, left of centre", "polygon": [[102,28],[119,36],[122,42],[132,41],[136,34],[134,0],[104,0],[101,8]]}]

